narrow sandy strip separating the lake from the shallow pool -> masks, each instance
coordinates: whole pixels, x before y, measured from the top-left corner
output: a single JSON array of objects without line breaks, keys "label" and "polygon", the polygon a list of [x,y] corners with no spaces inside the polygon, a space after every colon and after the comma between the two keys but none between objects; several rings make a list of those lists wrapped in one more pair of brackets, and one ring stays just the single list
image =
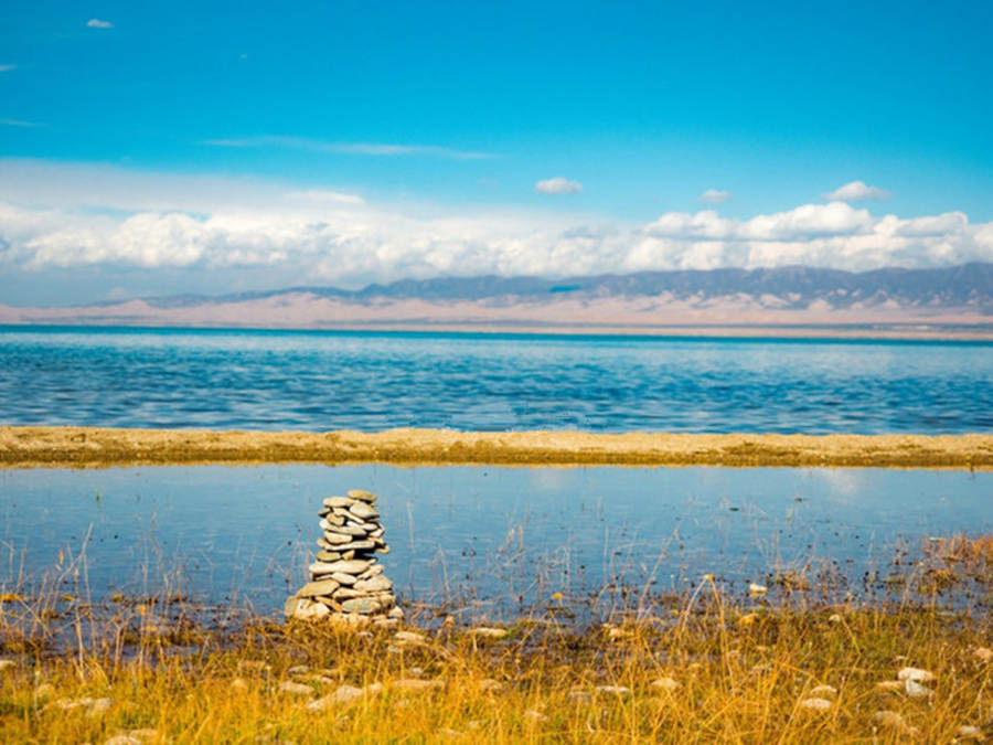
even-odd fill
[{"label": "narrow sandy strip separating the lake from the shallow pool", "polygon": [[993,470],[993,435],[210,432],[0,427],[0,467],[397,465],[841,466]]}]

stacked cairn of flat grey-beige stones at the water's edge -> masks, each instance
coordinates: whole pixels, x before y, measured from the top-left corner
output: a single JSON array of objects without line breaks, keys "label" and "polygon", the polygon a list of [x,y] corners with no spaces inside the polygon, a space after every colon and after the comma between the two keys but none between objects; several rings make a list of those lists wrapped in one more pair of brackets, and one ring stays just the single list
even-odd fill
[{"label": "stacked cairn of flat grey-beige stones at the water's edge", "polygon": [[320,551],[310,565],[310,582],[286,602],[286,615],[305,620],[330,618],[350,622],[396,624],[393,583],[374,554],[389,553],[375,508],[376,496],[352,489],[329,497],[321,508]]}]

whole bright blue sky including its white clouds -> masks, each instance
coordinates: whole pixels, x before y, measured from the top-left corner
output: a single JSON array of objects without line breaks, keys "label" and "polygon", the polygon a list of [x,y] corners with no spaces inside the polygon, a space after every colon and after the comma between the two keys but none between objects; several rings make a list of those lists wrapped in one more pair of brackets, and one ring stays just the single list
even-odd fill
[{"label": "whole bright blue sky including its white clouds", "polygon": [[993,3],[0,3],[0,304],[993,260]]}]

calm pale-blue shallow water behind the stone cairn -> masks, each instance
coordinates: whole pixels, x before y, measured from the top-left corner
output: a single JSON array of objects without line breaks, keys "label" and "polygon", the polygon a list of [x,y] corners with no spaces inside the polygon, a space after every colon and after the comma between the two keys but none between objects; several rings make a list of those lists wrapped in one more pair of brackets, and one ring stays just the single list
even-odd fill
[{"label": "calm pale-blue shallow water behind the stone cairn", "polygon": [[[798,572],[830,598],[868,600],[889,592],[893,562],[906,568],[929,538],[993,530],[991,472],[15,469],[0,470],[0,590],[62,576],[63,590],[93,599],[182,588],[200,603],[270,613],[307,579],[321,499],[350,488],[380,494],[391,545],[381,561],[401,602],[444,600],[472,620],[554,593],[592,596],[604,611],[618,602],[607,587],[683,593],[703,574],[744,597],[749,582]],[[959,604],[989,609],[990,599],[980,590]]]}]

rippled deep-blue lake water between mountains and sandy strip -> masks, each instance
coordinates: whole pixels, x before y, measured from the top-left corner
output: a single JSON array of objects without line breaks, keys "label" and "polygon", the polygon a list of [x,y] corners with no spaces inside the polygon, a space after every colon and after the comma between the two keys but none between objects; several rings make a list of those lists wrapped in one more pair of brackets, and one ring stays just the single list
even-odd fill
[{"label": "rippled deep-blue lake water between mountains and sandy strip", "polygon": [[993,344],[0,327],[0,424],[990,432]]}]

